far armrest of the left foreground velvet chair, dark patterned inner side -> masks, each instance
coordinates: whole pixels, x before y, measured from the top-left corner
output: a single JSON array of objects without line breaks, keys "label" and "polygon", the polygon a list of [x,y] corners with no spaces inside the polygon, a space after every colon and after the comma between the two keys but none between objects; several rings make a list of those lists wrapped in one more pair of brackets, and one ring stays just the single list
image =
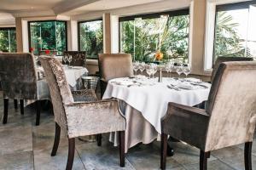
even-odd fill
[{"label": "far armrest of the left foreground velvet chair, dark patterned inner side", "polygon": [[96,101],[97,96],[93,89],[83,89],[72,91],[74,101]]}]

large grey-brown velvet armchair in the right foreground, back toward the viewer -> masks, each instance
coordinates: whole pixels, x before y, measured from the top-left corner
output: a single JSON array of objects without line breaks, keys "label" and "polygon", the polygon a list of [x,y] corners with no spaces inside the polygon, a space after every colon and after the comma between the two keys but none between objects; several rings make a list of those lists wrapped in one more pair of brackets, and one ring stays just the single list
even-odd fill
[{"label": "large grey-brown velvet armchair in the right foreground, back toward the viewer", "polygon": [[167,134],[200,149],[200,169],[207,169],[210,151],[245,143],[245,169],[252,169],[256,123],[256,62],[219,65],[206,110],[168,104],[161,120],[161,168],[166,168]]}]

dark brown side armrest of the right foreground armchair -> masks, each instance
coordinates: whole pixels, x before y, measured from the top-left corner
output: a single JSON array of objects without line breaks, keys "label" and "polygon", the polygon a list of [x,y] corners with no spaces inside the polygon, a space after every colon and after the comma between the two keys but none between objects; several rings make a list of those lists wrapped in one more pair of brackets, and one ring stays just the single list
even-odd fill
[{"label": "dark brown side armrest of the right foreground armchair", "polygon": [[204,149],[209,118],[205,110],[169,103],[166,116],[161,120],[162,133]]}]

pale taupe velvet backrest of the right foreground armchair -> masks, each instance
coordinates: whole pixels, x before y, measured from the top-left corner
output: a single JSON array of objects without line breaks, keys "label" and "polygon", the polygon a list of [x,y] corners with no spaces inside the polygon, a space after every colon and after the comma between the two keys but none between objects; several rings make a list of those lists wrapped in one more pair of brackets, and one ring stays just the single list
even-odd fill
[{"label": "pale taupe velvet backrest of the right foreground armchair", "polygon": [[256,62],[219,65],[208,98],[206,150],[253,140],[256,122]]}]

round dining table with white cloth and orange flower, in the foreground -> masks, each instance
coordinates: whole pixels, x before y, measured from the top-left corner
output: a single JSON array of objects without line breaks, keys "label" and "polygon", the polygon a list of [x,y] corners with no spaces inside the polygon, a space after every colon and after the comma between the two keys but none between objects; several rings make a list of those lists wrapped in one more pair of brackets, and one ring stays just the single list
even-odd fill
[{"label": "round dining table with white cloth and orange flower, in the foreground", "polygon": [[[118,99],[126,119],[125,152],[132,146],[160,140],[161,118],[169,102],[194,106],[208,99],[211,84],[195,78],[120,77],[108,81],[102,99]],[[109,141],[119,144],[118,133]]]}]

